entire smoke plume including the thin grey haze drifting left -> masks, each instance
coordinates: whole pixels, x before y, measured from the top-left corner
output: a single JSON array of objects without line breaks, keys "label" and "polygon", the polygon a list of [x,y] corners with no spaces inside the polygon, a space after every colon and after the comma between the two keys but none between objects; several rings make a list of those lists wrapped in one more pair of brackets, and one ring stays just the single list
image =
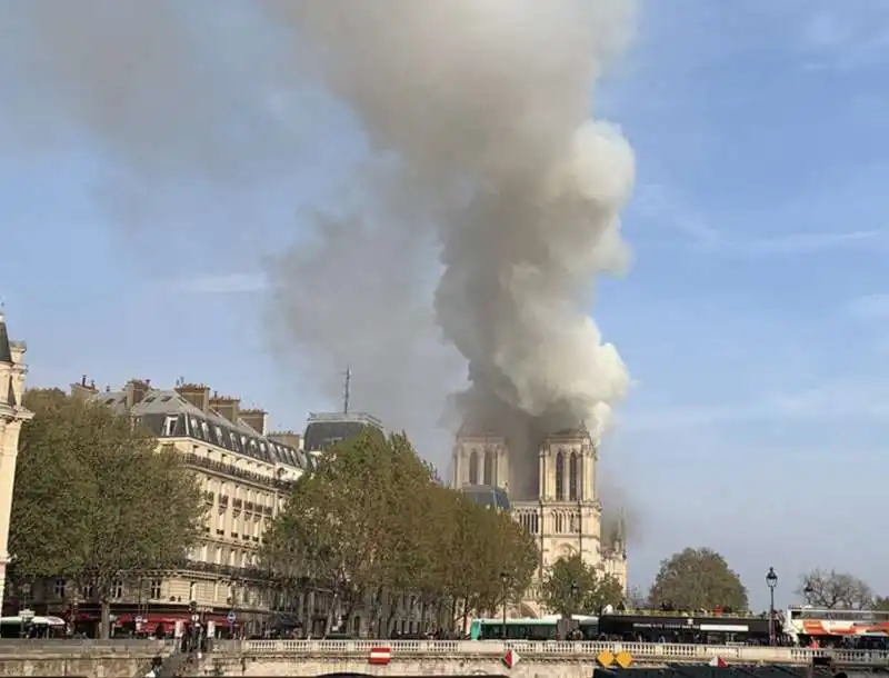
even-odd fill
[{"label": "entire smoke plume including the thin grey haze drifting left", "polygon": [[[18,117],[34,143],[46,141],[48,117],[63,117],[147,181],[240,180],[298,157],[292,130],[271,123],[270,96],[322,83],[369,152],[341,201],[357,209],[320,210],[313,245],[273,268],[288,340],[327,369],[354,365],[359,396],[369,375],[369,409],[396,425],[418,400],[429,409],[417,389],[443,386],[437,340],[456,347],[469,375],[453,399],[462,422],[527,445],[512,488],[533,491],[535,439],[579,421],[600,433],[628,386],[589,310],[597,276],[628,263],[618,215],[633,156],[618,129],[590,116],[595,83],[631,37],[635,3],[246,7],[17,3],[0,27],[0,57],[27,74],[40,106],[26,98],[0,117]],[[270,23],[274,49],[212,40],[221,33],[209,18],[237,34],[231,26],[247,14]]]}]

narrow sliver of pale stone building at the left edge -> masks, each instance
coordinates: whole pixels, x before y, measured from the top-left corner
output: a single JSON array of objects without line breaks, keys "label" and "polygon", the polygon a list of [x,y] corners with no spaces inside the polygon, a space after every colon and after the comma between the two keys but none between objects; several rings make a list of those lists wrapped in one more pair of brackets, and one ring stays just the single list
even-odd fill
[{"label": "narrow sliver of pale stone building at the left edge", "polygon": [[32,415],[21,405],[27,347],[10,341],[6,318],[0,308],[0,610],[3,609],[9,554],[9,524],[12,515],[12,487],[16,482],[16,460],[19,455],[21,425]]}]

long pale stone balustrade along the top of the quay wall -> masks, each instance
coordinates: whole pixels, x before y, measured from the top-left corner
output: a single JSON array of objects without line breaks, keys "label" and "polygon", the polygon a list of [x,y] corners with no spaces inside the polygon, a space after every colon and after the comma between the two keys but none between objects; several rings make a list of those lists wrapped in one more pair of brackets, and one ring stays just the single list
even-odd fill
[{"label": "long pale stone balustrade along the top of the quay wall", "polygon": [[217,642],[216,651],[247,656],[366,657],[374,647],[390,647],[392,657],[500,658],[515,649],[523,658],[590,661],[602,651],[627,651],[635,661],[707,662],[721,657],[738,664],[810,664],[813,657],[831,657],[840,665],[889,665],[889,652],[869,650],[812,650],[798,647],[680,645],[660,642],[560,642],[499,640],[243,640]]}]

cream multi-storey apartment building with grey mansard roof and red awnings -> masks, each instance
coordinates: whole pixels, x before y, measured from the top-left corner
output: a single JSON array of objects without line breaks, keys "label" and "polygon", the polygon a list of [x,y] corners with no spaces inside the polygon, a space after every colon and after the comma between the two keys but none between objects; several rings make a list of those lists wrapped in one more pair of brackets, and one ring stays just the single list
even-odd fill
[{"label": "cream multi-storey apartment building with grey mansard roof and red awnings", "polygon": [[[258,562],[264,530],[293,482],[314,467],[314,459],[292,445],[300,436],[267,431],[263,410],[242,409],[238,398],[211,395],[204,385],[157,389],[133,379],[120,390],[100,391],[83,377],[71,385],[71,396],[132,417],[159,446],[181,453],[208,508],[203,538],[180,568],[112,586],[116,632],[156,632],[159,626],[171,632],[192,608],[220,635],[260,632],[282,617],[310,624],[322,616],[322,599],[284,596]],[[87,632],[98,624],[97,591],[76,582],[36,582],[29,598],[39,614],[72,618]]]}]

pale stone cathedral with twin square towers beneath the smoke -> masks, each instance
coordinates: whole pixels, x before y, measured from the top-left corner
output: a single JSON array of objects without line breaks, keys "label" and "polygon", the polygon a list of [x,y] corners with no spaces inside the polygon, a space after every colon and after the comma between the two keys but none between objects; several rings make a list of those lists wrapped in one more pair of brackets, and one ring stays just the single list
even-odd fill
[{"label": "pale stone cathedral with twin square towers beneath the smoke", "polygon": [[[551,433],[537,446],[536,456],[535,473],[530,450],[510,449],[510,441],[503,436],[463,430],[453,451],[453,486],[457,489],[488,486],[507,492],[512,517],[533,535],[540,550],[536,582],[543,579],[553,562],[579,554],[587,565],[615,576],[626,589],[627,551],[622,535],[620,530],[602,535],[602,505],[596,492],[599,452],[589,431],[579,426]],[[531,587],[516,610],[519,616],[539,617],[549,612],[542,609],[536,589],[536,585]]]}]

